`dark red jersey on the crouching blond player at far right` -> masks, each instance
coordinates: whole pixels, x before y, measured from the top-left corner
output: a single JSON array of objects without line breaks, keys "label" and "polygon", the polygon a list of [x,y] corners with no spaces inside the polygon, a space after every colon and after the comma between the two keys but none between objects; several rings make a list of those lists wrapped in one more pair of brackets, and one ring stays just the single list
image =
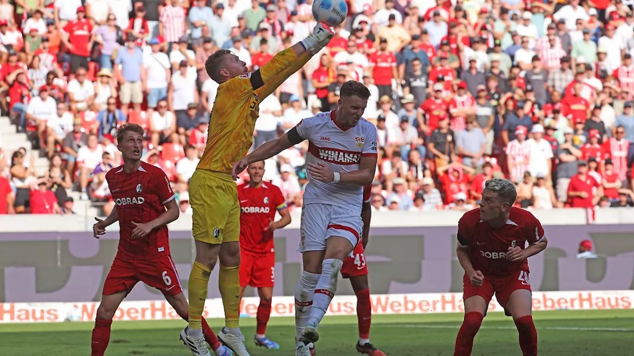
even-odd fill
[{"label": "dark red jersey on the crouching blond player at far right", "polygon": [[528,272],[528,260],[511,262],[506,253],[509,247],[525,248],[544,239],[544,229],[532,213],[512,207],[506,224],[494,229],[480,220],[480,208],[462,215],[458,221],[458,242],[469,246],[471,264],[484,276],[507,276],[525,270]]}]

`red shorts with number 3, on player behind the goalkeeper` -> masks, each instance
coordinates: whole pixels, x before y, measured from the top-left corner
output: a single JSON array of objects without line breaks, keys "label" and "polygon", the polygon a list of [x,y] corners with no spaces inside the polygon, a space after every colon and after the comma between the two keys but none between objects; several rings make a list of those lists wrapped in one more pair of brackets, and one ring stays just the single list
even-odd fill
[{"label": "red shorts with number 3, on player behind the goalkeeper", "polygon": [[273,287],[275,252],[253,253],[240,249],[240,286]]}]

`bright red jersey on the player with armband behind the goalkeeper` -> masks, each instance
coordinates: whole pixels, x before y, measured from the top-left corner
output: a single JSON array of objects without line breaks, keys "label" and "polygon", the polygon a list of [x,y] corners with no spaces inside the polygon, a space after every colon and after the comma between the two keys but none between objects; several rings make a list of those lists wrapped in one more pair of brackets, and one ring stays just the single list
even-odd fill
[{"label": "bright red jersey on the player with armband behind the goalkeeper", "polygon": [[238,186],[240,201],[240,248],[256,253],[275,252],[273,231],[266,231],[275,220],[275,212],[285,209],[280,188],[262,182],[259,188],[243,183]]}]

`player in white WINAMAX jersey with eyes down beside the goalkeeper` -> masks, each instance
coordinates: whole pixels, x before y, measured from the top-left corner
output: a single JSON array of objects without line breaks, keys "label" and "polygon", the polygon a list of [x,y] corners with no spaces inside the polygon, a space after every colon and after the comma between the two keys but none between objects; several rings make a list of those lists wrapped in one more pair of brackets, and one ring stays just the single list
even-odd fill
[{"label": "player in white WINAMAX jersey with eyes down beside the goalkeeper", "polygon": [[309,141],[298,249],[304,270],[295,289],[296,356],[309,356],[318,340],[317,326],[335,295],[343,260],[363,230],[363,186],[372,184],[377,168],[377,129],[361,117],[368,98],[368,88],[349,80],[341,86],[337,110],[305,118],[233,165],[235,178],[250,163]]}]

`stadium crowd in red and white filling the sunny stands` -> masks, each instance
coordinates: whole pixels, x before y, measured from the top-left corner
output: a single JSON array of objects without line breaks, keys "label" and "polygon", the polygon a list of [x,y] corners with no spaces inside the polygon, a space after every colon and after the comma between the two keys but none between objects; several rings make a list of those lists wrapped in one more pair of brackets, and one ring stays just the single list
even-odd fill
[{"label": "stadium crowd in red and white filling the sunny stands", "polygon": [[[124,122],[145,127],[143,159],[191,212],[218,86],[205,59],[230,49],[257,70],[309,34],[311,3],[0,0],[1,109],[50,160],[36,172],[25,149],[0,148],[0,213],[72,212],[70,189],[110,212]],[[262,100],[254,147],[337,108],[353,79],[372,92],[375,210],[467,210],[501,176],[524,208],[633,206],[632,3],[353,0],[327,48]],[[295,209],[306,153],[266,162]]]}]

